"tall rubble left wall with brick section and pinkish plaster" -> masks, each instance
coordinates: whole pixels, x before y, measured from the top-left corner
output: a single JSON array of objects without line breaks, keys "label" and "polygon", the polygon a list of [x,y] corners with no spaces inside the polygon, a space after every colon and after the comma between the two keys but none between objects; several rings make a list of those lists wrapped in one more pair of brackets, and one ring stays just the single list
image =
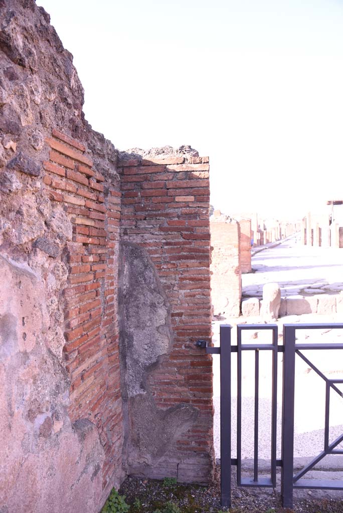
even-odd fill
[{"label": "tall rubble left wall with brick section and pinkish plaster", "polygon": [[117,152],[44,9],[0,30],[0,509],[95,512],[124,476]]}]

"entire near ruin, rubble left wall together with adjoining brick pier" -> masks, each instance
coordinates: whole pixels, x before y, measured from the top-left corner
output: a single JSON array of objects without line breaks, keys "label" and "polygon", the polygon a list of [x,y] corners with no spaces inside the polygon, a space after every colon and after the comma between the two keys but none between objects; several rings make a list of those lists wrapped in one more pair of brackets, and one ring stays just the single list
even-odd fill
[{"label": "entire near ruin, rubble left wall together with adjoining brick pier", "polygon": [[0,504],[96,512],[131,469],[206,482],[208,161],[122,163],[121,205],[49,15],[0,5]]}]

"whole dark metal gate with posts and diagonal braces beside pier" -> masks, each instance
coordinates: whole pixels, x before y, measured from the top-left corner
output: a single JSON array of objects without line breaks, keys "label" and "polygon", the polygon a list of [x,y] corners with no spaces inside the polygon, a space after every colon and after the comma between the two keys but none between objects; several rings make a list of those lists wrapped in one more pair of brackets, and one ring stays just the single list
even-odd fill
[{"label": "whole dark metal gate with posts and diagonal braces beside pier", "polygon": [[[278,344],[278,327],[274,324],[242,324],[237,326],[237,345],[231,344],[230,325],[220,326],[220,347],[207,347],[206,352],[220,354],[220,451],[221,451],[221,504],[231,506],[231,467],[237,466],[237,484],[239,486],[276,487],[276,467],[281,467],[281,496],[283,507],[293,507],[294,488],[343,489],[343,481],[320,481],[302,479],[322,458],[329,454],[343,455],[336,449],[343,441],[343,434],[329,443],[330,390],[343,397],[336,386],[342,379],[330,380],[302,353],[307,349],[343,349],[340,343],[297,343],[296,331],[308,329],[343,329],[343,324],[285,324],[283,341]],[[242,331],[270,330],[271,344],[242,344]],[[254,477],[243,478],[241,472],[241,415],[242,415],[242,351],[255,352],[255,407],[254,407]],[[259,392],[259,351],[272,352],[272,390],[271,390],[271,469],[270,477],[259,477],[258,471],[258,392]],[[237,352],[237,458],[231,458],[231,353]],[[276,459],[277,435],[277,355],[283,352],[283,390],[282,390],[282,436],[281,460]],[[306,362],[326,383],[325,431],[323,450],[301,471],[293,473],[294,451],[294,392],[295,357]]]}]

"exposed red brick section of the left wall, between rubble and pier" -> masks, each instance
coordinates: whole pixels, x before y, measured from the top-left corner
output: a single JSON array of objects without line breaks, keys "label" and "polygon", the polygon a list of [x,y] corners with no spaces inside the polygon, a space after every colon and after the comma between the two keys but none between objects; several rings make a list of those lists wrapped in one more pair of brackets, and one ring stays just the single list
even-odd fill
[{"label": "exposed red brick section of the left wall, between rubble and pier", "polygon": [[[69,373],[72,422],[97,425],[105,449],[104,496],[122,477],[122,403],[119,369],[117,282],[119,185],[93,167],[86,147],[53,130],[46,139],[49,161],[43,182],[53,202],[64,206],[72,222],[65,263],[65,368]],[[45,241],[49,245],[49,241]],[[50,249],[53,252],[51,243]]]}]

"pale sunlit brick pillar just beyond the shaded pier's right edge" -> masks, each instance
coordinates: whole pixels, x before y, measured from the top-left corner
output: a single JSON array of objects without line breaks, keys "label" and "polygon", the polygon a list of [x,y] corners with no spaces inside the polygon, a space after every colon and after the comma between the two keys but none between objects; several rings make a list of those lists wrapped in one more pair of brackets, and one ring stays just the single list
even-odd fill
[{"label": "pale sunlit brick pillar just beyond the shaded pier's right edge", "polygon": [[211,287],[214,314],[238,317],[242,295],[240,227],[234,219],[211,218]]}]

